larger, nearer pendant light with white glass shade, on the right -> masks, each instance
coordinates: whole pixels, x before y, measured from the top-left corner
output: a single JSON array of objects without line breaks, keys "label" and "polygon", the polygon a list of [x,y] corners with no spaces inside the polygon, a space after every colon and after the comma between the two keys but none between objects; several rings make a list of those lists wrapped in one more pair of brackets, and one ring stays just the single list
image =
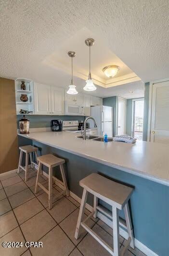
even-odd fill
[{"label": "larger, nearer pendant light with white glass shade, on the right", "polygon": [[91,46],[94,45],[94,39],[88,38],[85,40],[85,44],[89,46],[89,77],[86,80],[86,85],[83,88],[83,90],[87,91],[93,91],[96,90],[95,85],[93,84],[93,81],[91,79]]}]

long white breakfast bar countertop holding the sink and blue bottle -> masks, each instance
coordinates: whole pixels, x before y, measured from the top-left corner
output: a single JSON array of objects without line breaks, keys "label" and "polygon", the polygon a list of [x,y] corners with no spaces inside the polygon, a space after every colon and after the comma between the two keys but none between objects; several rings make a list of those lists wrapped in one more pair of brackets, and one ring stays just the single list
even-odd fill
[{"label": "long white breakfast bar countertop holding the sink and blue bottle", "polygon": [[169,186],[169,145],[136,141],[83,141],[71,132],[31,132],[21,135],[95,162]]}]

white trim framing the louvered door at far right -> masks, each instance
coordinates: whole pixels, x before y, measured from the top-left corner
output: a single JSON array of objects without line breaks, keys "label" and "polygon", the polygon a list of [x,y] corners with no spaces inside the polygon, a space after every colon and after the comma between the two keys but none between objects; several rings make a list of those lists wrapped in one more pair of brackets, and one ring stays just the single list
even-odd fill
[{"label": "white trim framing the louvered door at far right", "polygon": [[152,96],[153,96],[153,85],[157,83],[167,82],[169,78],[164,78],[150,82],[149,85],[149,102],[148,102],[148,129],[147,129],[147,141],[150,141],[151,133],[151,117],[152,117]]}]

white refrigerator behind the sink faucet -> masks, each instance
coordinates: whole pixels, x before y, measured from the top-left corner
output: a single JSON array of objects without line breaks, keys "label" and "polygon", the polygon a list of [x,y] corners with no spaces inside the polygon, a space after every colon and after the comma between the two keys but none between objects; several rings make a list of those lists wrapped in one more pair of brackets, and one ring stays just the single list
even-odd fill
[{"label": "white refrigerator behind the sink faucet", "polygon": [[[97,123],[97,135],[113,137],[113,107],[111,106],[91,106],[91,117]],[[93,121],[89,120],[90,128],[94,127]]]}]

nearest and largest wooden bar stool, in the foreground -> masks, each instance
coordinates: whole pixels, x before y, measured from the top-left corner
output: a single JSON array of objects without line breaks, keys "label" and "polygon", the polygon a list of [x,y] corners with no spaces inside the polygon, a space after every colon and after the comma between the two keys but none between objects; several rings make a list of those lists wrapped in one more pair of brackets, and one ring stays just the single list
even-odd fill
[{"label": "nearest and largest wooden bar stool, in the foreground", "polygon": [[[113,256],[123,256],[129,244],[134,249],[134,237],[128,204],[133,189],[115,181],[111,181],[97,173],[92,173],[87,176],[81,180],[79,184],[83,187],[83,196],[78,214],[75,238],[78,239],[80,226],[82,226]],[[93,211],[84,221],[82,221],[88,192],[94,196]],[[112,206],[112,214],[105,210],[105,208],[98,206],[98,198]],[[119,210],[122,209],[124,209],[126,221],[120,219],[118,216]],[[103,212],[107,217],[112,219],[114,250],[85,223],[91,216],[96,218],[98,211]],[[126,228],[129,234],[129,239],[122,250],[120,250],[119,243],[119,225]]]}]

